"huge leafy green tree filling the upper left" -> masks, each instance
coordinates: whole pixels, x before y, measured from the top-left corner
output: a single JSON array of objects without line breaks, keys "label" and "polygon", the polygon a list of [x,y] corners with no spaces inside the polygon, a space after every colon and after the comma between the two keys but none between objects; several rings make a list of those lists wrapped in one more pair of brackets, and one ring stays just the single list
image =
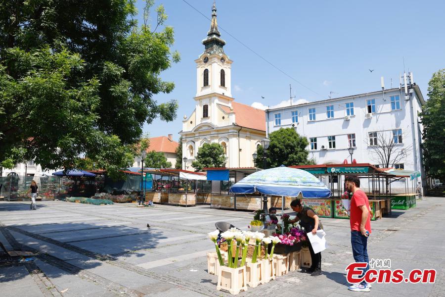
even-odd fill
[{"label": "huge leafy green tree filling the upper left", "polygon": [[2,166],[83,169],[86,155],[112,174],[133,163],[143,124],[171,121],[178,107],[153,99],[173,90],[160,74],[179,56],[162,6],[156,28],[147,24],[152,6],[138,26],[134,0],[2,1]]}]

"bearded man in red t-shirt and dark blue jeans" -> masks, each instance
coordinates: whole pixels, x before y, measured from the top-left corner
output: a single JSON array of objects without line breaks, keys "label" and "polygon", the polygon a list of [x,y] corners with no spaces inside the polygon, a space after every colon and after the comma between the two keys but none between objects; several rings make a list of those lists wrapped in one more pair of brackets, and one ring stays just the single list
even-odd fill
[{"label": "bearded man in red t-shirt and dark blue jeans", "polygon": [[[366,194],[360,190],[360,180],[357,176],[347,176],[345,178],[346,188],[353,193],[351,199],[351,246],[356,262],[369,263],[368,258],[368,236],[371,234],[371,212],[369,211],[369,201]],[[362,277],[368,270],[368,266],[363,269]],[[351,291],[369,292],[370,285],[363,280],[348,288]]]}]

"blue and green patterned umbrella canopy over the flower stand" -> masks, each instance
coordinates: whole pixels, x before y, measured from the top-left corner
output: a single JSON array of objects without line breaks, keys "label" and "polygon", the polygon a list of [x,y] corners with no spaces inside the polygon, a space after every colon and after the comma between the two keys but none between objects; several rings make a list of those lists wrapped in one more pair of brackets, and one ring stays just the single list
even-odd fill
[{"label": "blue and green patterned umbrella canopy over the flower stand", "polygon": [[232,187],[230,192],[303,198],[328,198],[331,191],[311,173],[290,167],[276,167],[257,171],[246,176]]}]

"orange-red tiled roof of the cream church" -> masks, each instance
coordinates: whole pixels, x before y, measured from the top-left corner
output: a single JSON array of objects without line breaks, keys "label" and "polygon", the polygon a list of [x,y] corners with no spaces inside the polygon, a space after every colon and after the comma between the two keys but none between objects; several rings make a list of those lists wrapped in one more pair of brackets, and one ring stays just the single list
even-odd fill
[{"label": "orange-red tiled roof of the cream church", "polygon": [[266,112],[264,110],[235,101],[232,101],[231,104],[233,109],[222,104],[218,105],[225,113],[235,113],[235,124],[245,128],[266,131]]}]

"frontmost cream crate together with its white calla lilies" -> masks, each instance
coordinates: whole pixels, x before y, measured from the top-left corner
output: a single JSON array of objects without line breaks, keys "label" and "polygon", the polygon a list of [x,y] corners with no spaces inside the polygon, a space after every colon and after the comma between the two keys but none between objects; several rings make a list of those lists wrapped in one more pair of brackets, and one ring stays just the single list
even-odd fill
[{"label": "frontmost cream crate together with its white calla lilies", "polygon": [[[232,245],[237,244],[238,241],[242,246],[242,255],[243,259],[241,263],[245,263],[245,237],[242,233],[236,228],[232,228],[224,233],[221,236],[227,242],[227,264],[224,264],[220,267],[218,272],[218,285],[217,290],[227,291],[230,294],[236,295],[240,291],[247,291],[247,283],[246,283],[246,266],[242,265],[238,267],[238,249],[235,252],[235,258],[232,255]],[[234,240],[235,239],[235,240]],[[235,243],[234,243],[235,242]],[[227,266],[225,266],[227,265]]]}]

